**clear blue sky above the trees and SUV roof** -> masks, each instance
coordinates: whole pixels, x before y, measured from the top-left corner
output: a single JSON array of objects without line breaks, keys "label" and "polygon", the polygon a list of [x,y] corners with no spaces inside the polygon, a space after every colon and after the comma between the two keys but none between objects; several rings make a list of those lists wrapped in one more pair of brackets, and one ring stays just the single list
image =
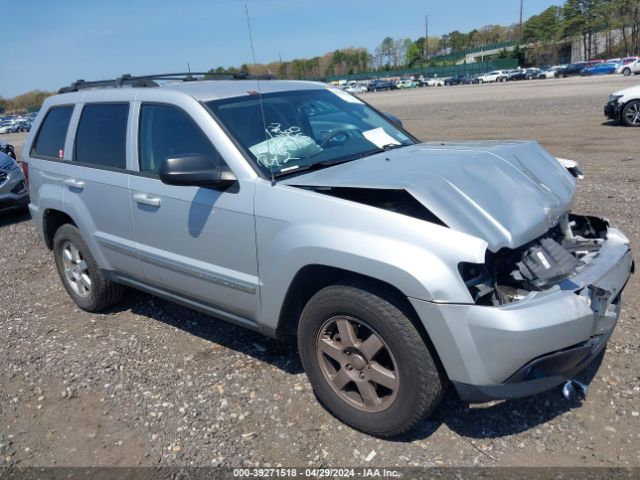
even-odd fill
[{"label": "clear blue sky above the trees and SUV roof", "polygon": [[[509,25],[519,0],[31,0],[3,1],[0,96],[56,90],[123,73],[207,71],[313,57],[345,47],[373,51],[384,37]],[[524,17],[558,0],[524,0]]]}]

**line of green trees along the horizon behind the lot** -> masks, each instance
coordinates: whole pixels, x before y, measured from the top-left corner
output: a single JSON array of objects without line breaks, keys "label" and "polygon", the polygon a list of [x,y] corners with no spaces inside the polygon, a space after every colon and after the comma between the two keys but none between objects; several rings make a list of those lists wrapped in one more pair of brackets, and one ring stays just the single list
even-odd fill
[{"label": "line of green trees along the horizon behind the lot", "polygon": [[[604,36],[604,46],[602,37]],[[244,65],[254,74],[271,73],[280,78],[323,78],[418,66],[436,66],[445,55],[483,45],[517,41],[513,56],[521,63],[557,62],[561,50],[579,38],[587,59],[640,54],[640,0],[566,0],[526,20],[522,27],[486,25],[439,37],[417,39],[386,37],[373,52],[365,48],[346,48],[313,58]],[[599,40],[600,39],[600,40]],[[565,55],[566,56],[566,55]],[[219,67],[216,71],[225,71]],[[230,69],[229,71],[237,71]]]}]

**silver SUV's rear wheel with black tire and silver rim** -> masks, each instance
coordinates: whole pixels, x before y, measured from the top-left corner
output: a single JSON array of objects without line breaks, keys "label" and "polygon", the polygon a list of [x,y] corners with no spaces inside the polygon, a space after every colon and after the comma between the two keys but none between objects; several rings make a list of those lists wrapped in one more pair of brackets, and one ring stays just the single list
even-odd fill
[{"label": "silver SUV's rear wheel with black tire and silver rim", "polygon": [[82,310],[99,312],[122,299],[125,287],[104,276],[74,225],[62,225],[56,231],[53,256],[65,290]]}]

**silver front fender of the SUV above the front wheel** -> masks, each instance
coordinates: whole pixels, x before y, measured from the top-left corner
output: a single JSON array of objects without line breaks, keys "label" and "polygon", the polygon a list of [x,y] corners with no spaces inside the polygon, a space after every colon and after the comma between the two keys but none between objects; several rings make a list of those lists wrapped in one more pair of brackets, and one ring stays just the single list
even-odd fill
[{"label": "silver front fender of the SUV above the front wheel", "polygon": [[463,261],[482,263],[483,240],[295,187],[262,184],[256,200],[260,323],[276,327],[292,280],[308,265],[378,279],[407,297],[471,301],[457,266]]}]

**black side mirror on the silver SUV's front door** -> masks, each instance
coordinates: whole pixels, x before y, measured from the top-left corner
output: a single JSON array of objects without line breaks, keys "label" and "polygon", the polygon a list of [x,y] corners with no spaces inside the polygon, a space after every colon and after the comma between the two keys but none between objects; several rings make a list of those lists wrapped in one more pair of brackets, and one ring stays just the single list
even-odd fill
[{"label": "black side mirror on the silver SUV's front door", "polygon": [[205,155],[166,158],[158,174],[162,183],[190,187],[227,188],[237,180],[229,170],[215,167]]}]

